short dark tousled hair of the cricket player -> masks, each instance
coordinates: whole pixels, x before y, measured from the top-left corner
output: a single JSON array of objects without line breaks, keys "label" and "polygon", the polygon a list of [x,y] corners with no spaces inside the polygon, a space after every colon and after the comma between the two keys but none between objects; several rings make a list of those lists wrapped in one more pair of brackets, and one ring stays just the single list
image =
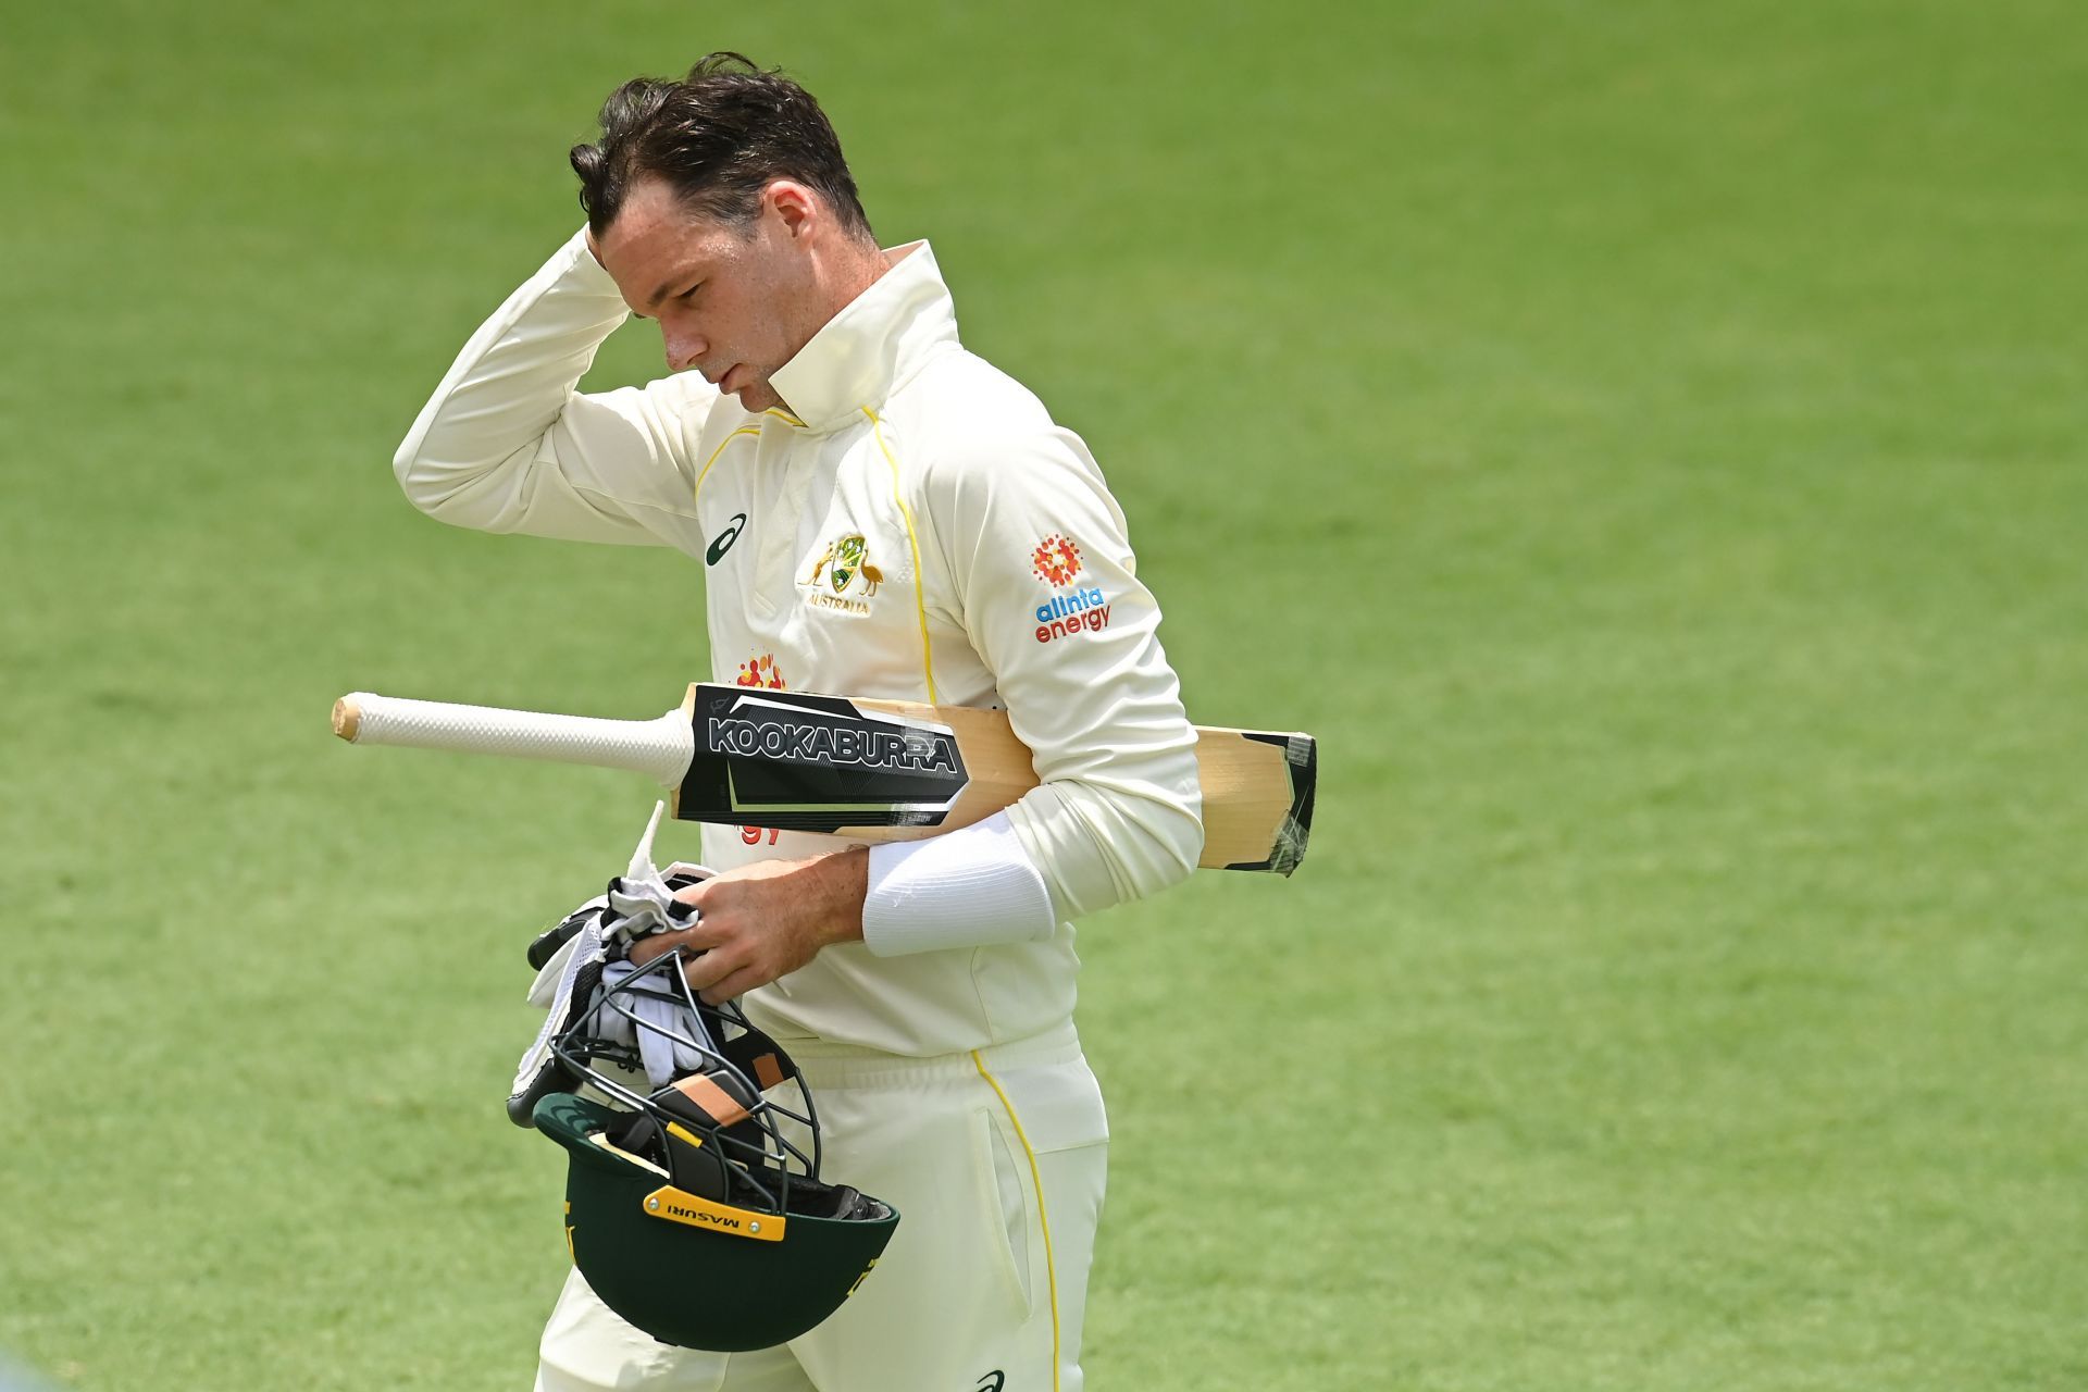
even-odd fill
[{"label": "short dark tousled hair of the cricket player", "polygon": [[624,207],[631,186],[666,179],[691,213],[745,225],[770,179],[798,179],[827,200],[841,225],[871,238],[841,140],[812,94],[781,69],[714,52],[681,81],[633,77],[601,104],[601,142],[572,146],[580,207],[595,236]]}]

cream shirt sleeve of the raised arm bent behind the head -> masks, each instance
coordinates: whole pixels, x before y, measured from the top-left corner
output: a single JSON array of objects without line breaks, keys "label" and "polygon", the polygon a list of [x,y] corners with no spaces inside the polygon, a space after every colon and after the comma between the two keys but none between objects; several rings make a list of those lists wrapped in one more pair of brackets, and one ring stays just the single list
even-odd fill
[{"label": "cream shirt sleeve of the raised arm bent behind the head", "polygon": [[578,232],[487,319],[393,457],[430,518],[482,532],[658,545],[695,511],[685,432],[716,403],[699,374],[574,390],[628,309]]}]

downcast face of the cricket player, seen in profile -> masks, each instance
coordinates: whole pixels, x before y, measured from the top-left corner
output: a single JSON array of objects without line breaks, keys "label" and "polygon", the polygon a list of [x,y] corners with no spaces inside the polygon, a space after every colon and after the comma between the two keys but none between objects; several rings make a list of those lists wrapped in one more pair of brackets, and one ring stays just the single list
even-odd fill
[{"label": "downcast face of the cricket player, seen in profile", "polygon": [[664,182],[643,179],[595,240],[624,303],[660,321],[668,371],[702,371],[748,411],[783,405],[768,376],[831,317],[793,188],[770,184],[741,227],[689,213]]}]

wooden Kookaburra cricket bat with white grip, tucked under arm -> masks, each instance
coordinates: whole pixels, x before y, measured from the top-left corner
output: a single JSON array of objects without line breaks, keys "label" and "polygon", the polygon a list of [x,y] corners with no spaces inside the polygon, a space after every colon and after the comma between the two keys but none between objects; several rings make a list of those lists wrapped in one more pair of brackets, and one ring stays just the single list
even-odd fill
[{"label": "wooden Kookaburra cricket bat with white grip, tucked under arm", "polygon": [[[651,774],[687,822],[912,841],[969,826],[1038,785],[1006,712],[697,682],[658,720],[547,716],[357,691],[334,735]],[[1311,735],[1196,726],[1203,862],[1290,874],[1305,858]]]}]

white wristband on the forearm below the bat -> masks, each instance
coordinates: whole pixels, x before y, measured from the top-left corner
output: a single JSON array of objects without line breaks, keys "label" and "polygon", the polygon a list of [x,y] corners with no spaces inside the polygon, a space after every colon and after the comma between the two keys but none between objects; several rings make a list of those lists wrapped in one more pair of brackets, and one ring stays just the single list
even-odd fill
[{"label": "white wristband on the forearm below the bat", "polygon": [[1042,941],[1059,927],[1006,812],[927,841],[873,845],[869,881],[862,941],[879,958]]}]

